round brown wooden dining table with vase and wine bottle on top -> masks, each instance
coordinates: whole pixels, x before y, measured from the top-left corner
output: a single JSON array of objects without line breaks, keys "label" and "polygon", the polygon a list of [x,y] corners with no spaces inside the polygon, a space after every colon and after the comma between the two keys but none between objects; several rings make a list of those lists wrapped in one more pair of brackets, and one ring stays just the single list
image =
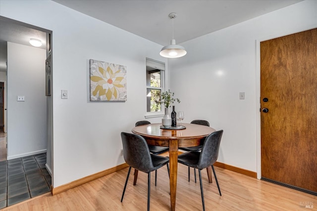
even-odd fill
[{"label": "round brown wooden dining table with vase and wine bottle on top", "polygon": [[[215,131],[212,127],[186,124],[185,129],[160,129],[160,123],[134,127],[132,132],[145,138],[149,145],[169,147],[170,169],[170,207],[175,211],[176,184],[177,184],[177,156],[178,147],[199,146],[202,140]],[[208,177],[211,182],[211,171],[208,169]]]}]

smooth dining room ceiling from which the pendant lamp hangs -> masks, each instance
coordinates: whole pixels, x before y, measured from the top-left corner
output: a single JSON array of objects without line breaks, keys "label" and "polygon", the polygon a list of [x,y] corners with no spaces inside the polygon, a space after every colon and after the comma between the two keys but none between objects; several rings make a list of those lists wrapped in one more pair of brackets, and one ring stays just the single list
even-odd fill
[{"label": "smooth dining room ceiling from which the pendant lamp hangs", "polygon": [[161,45],[185,42],[302,0],[53,0]]}]

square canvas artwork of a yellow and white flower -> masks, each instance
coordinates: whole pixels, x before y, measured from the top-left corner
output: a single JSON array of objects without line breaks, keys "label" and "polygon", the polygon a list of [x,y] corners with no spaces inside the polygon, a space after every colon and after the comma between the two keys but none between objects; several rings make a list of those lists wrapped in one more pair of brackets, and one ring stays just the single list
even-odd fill
[{"label": "square canvas artwork of a yellow and white flower", "polygon": [[90,59],[90,101],[126,101],[126,67]]}]

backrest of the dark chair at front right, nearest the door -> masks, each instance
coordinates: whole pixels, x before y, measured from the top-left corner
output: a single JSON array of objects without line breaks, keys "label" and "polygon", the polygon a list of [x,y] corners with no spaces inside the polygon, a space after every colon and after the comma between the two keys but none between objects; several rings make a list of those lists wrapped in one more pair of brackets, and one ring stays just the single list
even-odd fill
[{"label": "backrest of the dark chair at front right, nearest the door", "polygon": [[197,164],[198,169],[205,169],[217,161],[222,133],[223,130],[218,130],[206,137]]}]

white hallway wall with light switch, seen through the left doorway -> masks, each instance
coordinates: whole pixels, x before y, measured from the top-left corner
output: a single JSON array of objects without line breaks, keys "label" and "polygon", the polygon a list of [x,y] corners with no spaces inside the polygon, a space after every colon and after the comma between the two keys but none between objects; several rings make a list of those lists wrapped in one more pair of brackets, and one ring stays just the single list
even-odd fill
[{"label": "white hallway wall with light switch, seen through the left doorway", "polygon": [[[7,159],[46,152],[46,50],[7,42]],[[41,62],[42,61],[42,62]],[[17,96],[25,96],[18,102]]]}]

